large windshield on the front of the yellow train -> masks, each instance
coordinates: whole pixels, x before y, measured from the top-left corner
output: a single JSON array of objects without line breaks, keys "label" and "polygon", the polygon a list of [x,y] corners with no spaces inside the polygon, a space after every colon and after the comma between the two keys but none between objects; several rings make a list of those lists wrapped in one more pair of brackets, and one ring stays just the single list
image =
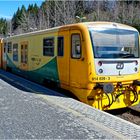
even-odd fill
[{"label": "large windshield on the front of the yellow train", "polygon": [[95,58],[138,58],[137,31],[117,28],[90,29]]}]

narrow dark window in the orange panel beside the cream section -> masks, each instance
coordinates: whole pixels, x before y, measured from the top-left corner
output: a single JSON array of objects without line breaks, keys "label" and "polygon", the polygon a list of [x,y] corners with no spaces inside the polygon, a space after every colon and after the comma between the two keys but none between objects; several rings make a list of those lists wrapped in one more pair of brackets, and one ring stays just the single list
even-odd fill
[{"label": "narrow dark window in the orange panel beside the cream section", "polygon": [[57,39],[57,55],[64,55],[64,37],[58,37]]}]

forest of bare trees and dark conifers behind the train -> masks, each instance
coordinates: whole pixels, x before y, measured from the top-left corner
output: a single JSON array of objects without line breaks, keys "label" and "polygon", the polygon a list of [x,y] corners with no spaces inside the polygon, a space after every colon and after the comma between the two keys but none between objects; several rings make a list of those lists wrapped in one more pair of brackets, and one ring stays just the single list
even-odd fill
[{"label": "forest of bare trees and dark conifers behind the train", "polygon": [[0,18],[0,36],[9,36],[86,21],[111,21],[140,31],[137,0],[46,0],[41,6],[22,5],[12,19]]}]

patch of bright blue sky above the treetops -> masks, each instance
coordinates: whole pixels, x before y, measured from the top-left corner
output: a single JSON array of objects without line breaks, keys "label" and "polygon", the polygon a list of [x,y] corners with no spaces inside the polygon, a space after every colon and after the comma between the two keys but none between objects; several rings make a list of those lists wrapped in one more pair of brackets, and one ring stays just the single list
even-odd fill
[{"label": "patch of bright blue sky above the treetops", "polygon": [[11,19],[18,7],[25,5],[27,8],[29,4],[37,4],[38,6],[45,0],[0,0],[0,18]]}]

